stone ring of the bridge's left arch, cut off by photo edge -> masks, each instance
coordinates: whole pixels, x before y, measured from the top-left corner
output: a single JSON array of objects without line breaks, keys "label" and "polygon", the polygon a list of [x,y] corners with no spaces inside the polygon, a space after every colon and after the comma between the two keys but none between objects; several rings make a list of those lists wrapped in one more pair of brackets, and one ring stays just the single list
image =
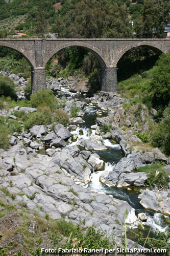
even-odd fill
[{"label": "stone ring of the bridge's left arch, cut off by photo edge", "polygon": [[31,69],[33,70],[35,67],[36,67],[36,63],[35,63],[35,60],[34,58],[32,58],[30,56],[29,53],[27,53],[25,50],[23,50],[22,48],[18,47],[18,46],[15,46],[13,44],[9,44],[9,42],[6,42],[6,41],[0,41],[0,46],[3,46],[3,47],[7,47],[7,48],[11,48],[11,49],[14,49],[16,50],[17,52],[21,53],[23,55],[23,57],[25,57],[27,59],[27,61],[29,62],[30,66],[31,66]]}]

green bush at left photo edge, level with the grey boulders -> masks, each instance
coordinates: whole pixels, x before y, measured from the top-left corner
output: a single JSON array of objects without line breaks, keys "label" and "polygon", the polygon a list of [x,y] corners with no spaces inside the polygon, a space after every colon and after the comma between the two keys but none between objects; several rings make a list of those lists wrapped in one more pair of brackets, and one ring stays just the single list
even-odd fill
[{"label": "green bush at left photo edge, level with the grey boulders", "polygon": [[9,135],[10,135],[10,130],[8,127],[4,124],[0,124],[0,148],[3,148],[4,150],[8,150],[10,146],[10,141],[9,141]]}]

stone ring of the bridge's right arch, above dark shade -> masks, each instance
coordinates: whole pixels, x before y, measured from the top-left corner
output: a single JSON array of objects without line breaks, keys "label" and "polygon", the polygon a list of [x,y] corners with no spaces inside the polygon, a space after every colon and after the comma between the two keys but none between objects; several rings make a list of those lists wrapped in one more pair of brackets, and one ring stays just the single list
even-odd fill
[{"label": "stone ring of the bridge's right arch, above dark shade", "polygon": [[160,46],[155,44],[154,42],[147,42],[147,41],[143,41],[143,42],[136,42],[135,44],[129,45],[126,48],[124,48],[122,51],[120,51],[114,58],[113,62],[112,62],[112,66],[116,67],[118,61],[120,60],[120,58],[122,58],[122,56],[128,52],[129,50],[131,50],[132,48],[138,47],[138,46],[148,46],[149,48],[151,48],[154,52],[156,52],[157,54],[161,54],[161,53],[165,53],[165,49]]}]

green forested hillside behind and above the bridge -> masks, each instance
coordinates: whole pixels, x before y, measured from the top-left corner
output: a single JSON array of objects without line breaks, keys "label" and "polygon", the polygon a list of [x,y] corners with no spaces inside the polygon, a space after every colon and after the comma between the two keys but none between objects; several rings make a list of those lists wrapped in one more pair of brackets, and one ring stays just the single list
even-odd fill
[{"label": "green forested hillside behind and above the bridge", "polygon": [[[0,35],[55,32],[59,37],[163,37],[167,0],[0,1]],[[134,33],[135,32],[135,33]]]}]

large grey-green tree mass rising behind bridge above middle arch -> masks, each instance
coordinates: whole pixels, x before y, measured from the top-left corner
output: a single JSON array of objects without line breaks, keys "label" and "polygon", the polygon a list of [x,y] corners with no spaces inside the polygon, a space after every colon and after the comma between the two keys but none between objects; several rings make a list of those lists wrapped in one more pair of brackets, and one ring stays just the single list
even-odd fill
[{"label": "large grey-green tree mass rising behind bridge above middle arch", "polygon": [[[63,28],[64,30],[60,29]],[[62,37],[132,37],[128,8],[108,0],[84,0],[58,16],[53,32]]]}]

